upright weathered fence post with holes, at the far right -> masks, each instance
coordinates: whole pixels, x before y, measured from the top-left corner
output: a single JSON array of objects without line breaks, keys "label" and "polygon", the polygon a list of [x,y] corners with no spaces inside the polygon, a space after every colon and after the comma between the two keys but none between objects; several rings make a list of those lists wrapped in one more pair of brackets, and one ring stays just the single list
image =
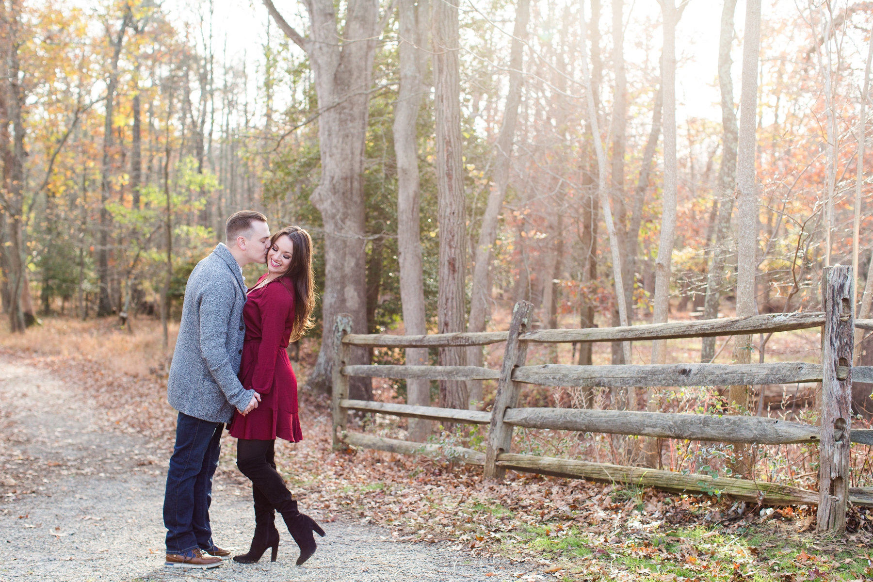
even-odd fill
[{"label": "upright weathered fence post with holes, at the far right", "polygon": [[849,266],[825,270],[825,322],[821,338],[821,444],[819,445],[819,507],[816,530],[842,533],[846,530],[849,503],[849,426],[852,409],[852,371],[845,380],[836,376],[836,366],[851,366],[854,352],[855,284]]}]

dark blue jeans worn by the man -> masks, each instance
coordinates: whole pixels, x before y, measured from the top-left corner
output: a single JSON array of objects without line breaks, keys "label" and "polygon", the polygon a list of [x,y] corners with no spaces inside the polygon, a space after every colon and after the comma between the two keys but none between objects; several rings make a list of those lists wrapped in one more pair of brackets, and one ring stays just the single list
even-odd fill
[{"label": "dark blue jeans worn by the man", "polygon": [[212,476],[218,467],[223,429],[222,422],[179,413],[164,495],[167,553],[211,550],[214,545],[210,528]]}]

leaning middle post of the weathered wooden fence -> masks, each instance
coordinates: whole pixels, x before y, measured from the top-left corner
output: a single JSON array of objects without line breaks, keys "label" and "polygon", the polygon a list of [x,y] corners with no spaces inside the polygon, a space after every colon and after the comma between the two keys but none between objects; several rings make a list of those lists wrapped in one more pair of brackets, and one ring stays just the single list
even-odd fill
[{"label": "leaning middle post of the weathered wooden fence", "polygon": [[519,335],[527,331],[531,322],[533,304],[519,301],[512,308],[512,323],[509,325],[509,338],[503,353],[503,367],[491,410],[491,428],[488,431],[488,448],[485,451],[485,477],[502,479],[506,469],[498,467],[497,455],[508,453],[512,444],[512,425],[504,424],[506,408],[515,407],[519,401],[521,383],[512,381],[512,371],[525,365],[527,343],[519,341]]}]

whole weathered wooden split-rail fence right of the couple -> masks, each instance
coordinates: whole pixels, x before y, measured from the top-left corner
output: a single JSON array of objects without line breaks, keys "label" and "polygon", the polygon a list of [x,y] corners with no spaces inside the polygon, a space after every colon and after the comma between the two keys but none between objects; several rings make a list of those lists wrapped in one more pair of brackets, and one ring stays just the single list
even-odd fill
[{"label": "whole weathered wooden split-rail fence right of the couple", "polygon": [[[347,314],[336,318],[333,360],[333,443],[375,448],[407,455],[450,455],[456,462],[483,465],[486,477],[502,478],[507,469],[551,476],[632,483],[670,491],[719,491],[755,503],[818,506],[819,531],[845,530],[849,503],[873,506],[873,488],[849,487],[851,443],[873,444],[873,430],[851,428],[852,380],[873,382],[873,366],[852,366],[855,330],[873,330],[873,319],[855,319],[855,288],[851,268],[835,266],[822,282],[824,312],[794,312],[693,322],[531,330],[533,305],[520,301],[512,311],[508,332],[438,333],[421,336],[351,332]],[[666,364],[648,366],[526,366],[532,343],[613,342],[644,339],[684,339],[821,328],[821,364]],[[500,370],[478,366],[355,366],[350,355],[361,347],[485,346],[506,342]],[[348,400],[349,378],[497,380],[491,412],[419,407]],[[797,384],[821,382],[817,425],[778,419],[714,414],[672,414],[620,410],[519,407],[524,384],[549,387],[700,387]],[[488,425],[486,452],[469,448],[407,442],[347,430],[349,410],[391,414],[444,423]],[[818,491],[746,479],[683,475],[662,469],[622,467],[512,453],[515,427],[639,435],[684,440],[781,445],[812,442],[819,447]]]}]

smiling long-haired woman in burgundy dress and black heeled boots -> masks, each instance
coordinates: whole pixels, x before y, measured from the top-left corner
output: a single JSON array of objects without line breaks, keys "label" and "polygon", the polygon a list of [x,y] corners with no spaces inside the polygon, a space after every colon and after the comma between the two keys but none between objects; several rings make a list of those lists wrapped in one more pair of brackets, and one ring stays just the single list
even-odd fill
[{"label": "smiling long-haired woman in burgundy dress and black heeled boots", "polygon": [[273,460],[276,438],[299,442],[303,435],[297,410],[297,379],[285,348],[313,326],[313,241],[296,226],[270,237],[267,272],[249,290],[243,310],[245,343],[239,380],[243,387],[261,395],[249,414],[235,414],[230,435],[237,441],[237,467],[251,480],[255,499],[255,535],[248,553],[237,562],[257,562],[267,548],[272,561],[278,551],[278,530],[273,523],[278,510],[300,548],[297,565],[313,555],[313,531],[325,532],[312,517],[297,510],[297,501],[285,487]]}]

